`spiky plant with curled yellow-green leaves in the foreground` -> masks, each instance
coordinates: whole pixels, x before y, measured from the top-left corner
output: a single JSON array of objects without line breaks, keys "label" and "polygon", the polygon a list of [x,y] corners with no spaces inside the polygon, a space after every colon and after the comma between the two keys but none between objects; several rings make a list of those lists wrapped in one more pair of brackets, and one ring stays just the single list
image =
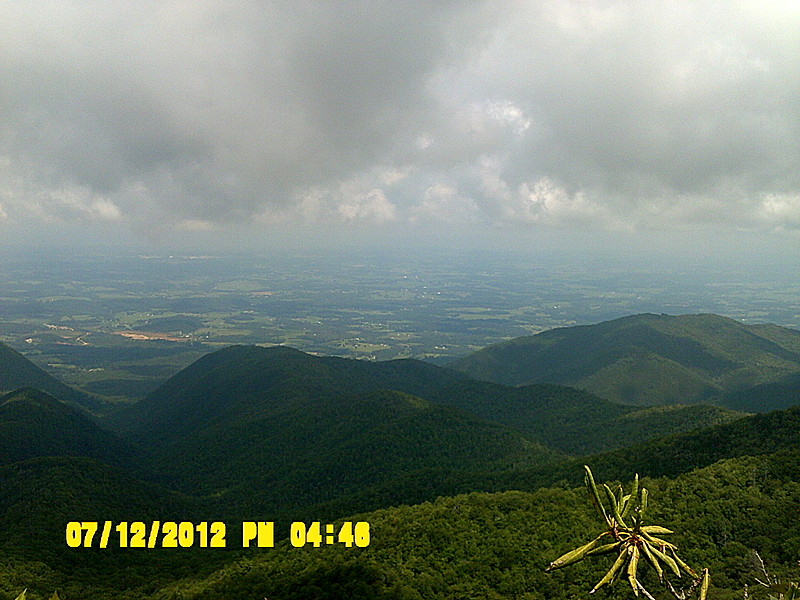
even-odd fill
[{"label": "spiky plant with curled yellow-green leaves in the foreground", "polygon": [[[616,554],[617,557],[611,568],[597,582],[590,594],[595,593],[604,585],[613,585],[623,573],[633,590],[638,596],[640,593],[653,600],[639,580],[639,564],[647,562],[658,574],[666,589],[678,600],[685,600],[697,592],[700,600],[705,600],[708,593],[710,576],[708,569],[703,569],[701,574],[686,564],[677,553],[677,547],[656,536],[672,533],[669,529],[659,525],[644,525],[644,514],[647,510],[647,489],[639,485],[639,476],[636,475],[629,494],[625,494],[622,486],[616,492],[612,491],[605,483],[602,490],[608,503],[606,509],[597,484],[594,481],[591,469],[584,466],[586,475],[584,482],[589,491],[589,499],[597,512],[606,523],[606,530],[592,541],[567,552],[554,560],[547,567],[547,571],[560,569],[583,560],[588,556],[601,554]],[[670,580],[671,576],[681,578],[681,572],[689,576],[688,585],[676,587]]]}]

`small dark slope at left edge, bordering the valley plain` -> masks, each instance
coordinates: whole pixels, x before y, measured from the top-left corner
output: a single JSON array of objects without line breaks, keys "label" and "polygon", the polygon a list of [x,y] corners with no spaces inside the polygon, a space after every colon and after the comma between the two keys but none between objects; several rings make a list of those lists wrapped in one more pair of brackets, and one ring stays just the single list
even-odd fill
[{"label": "small dark slope at left edge, bordering the valley plain", "polygon": [[0,392],[11,392],[25,387],[45,391],[59,400],[72,402],[89,410],[102,407],[102,402],[96,398],[61,383],[22,354],[0,342]]}]

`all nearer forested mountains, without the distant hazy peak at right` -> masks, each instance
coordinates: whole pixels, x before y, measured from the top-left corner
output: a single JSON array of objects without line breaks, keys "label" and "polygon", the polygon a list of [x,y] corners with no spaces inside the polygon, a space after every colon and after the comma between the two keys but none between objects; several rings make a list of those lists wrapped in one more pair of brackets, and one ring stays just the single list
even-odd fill
[{"label": "all nearer forested mountains, without the distant hazy peak at right", "polygon": [[[800,539],[770,525],[798,509],[800,408],[637,407],[413,360],[237,346],[104,424],[125,441],[42,392],[0,397],[0,598],[566,599],[604,572],[543,573],[596,526],[572,489],[584,463],[651,478],[654,516],[714,570],[714,598],[741,597],[749,548],[791,573]],[[369,547],[237,550],[244,520],[275,521],[280,539],[292,520],[337,519],[369,522]],[[231,544],[69,548],[75,520],[220,520]]]}]

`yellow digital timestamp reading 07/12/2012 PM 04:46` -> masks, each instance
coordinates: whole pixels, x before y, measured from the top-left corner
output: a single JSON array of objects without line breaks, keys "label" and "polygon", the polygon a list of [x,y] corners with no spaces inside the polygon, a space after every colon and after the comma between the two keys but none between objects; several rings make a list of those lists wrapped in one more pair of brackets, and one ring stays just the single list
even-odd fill
[{"label": "yellow digital timestamp reading 07/12/2012 PM 04:46", "polygon": [[[66,542],[70,548],[226,548],[229,531],[222,521],[70,521]],[[243,548],[275,546],[273,521],[243,521],[240,531]],[[295,548],[335,544],[366,548],[370,526],[366,521],[295,521],[289,527],[289,542]]]}]

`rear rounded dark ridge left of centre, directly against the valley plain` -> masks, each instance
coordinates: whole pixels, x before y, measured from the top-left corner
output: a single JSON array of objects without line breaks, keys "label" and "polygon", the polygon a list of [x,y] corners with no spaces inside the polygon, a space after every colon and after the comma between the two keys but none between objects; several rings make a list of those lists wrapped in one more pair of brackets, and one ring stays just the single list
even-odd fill
[{"label": "rear rounded dark ridge left of centre, directly against the valley plain", "polygon": [[105,423],[157,441],[190,434],[210,421],[264,417],[309,399],[387,389],[424,396],[464,378],[410,359],[371,363],[312,356],[285,346],[230,346],[195,361]]}]

